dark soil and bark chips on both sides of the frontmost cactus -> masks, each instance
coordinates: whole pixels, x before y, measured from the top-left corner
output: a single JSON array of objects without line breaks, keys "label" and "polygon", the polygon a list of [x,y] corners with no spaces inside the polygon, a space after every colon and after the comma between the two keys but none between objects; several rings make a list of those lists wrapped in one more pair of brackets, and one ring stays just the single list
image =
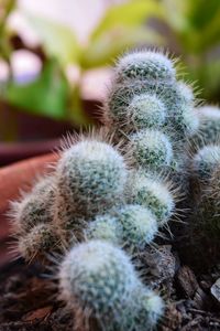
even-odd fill
[{"label": "dark soil and bark chips on both sides of the frontmost cactus", "polygon": [[[140,260],[144,279],[167,302],[158,330],[220,330],[220,302],[211,293],[220,267],[195,275],[170,245],[148,248]],[[73,330],[73,314],[55,300],[56,287],[48,286],[40,265],[19,259],[0,271],[0,331]]]}]

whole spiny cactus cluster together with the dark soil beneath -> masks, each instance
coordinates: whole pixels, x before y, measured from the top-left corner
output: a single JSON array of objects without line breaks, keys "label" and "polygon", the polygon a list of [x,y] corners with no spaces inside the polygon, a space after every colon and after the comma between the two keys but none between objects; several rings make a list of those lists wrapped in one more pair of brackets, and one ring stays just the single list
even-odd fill
[{"label": "whole spiny cactus cluster together with the dark soil beneath", "polygon": [[2,273],[4,329],[219,327],[219,121],[195,103],[163,53],[119,60],[105,130],[69,138],[12,205],[30,267]]}]

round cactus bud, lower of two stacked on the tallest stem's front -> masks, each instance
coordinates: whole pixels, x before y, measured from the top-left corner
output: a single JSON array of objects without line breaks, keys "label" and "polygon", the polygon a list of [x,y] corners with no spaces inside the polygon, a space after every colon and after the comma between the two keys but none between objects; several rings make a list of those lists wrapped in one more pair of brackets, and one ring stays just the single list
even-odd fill
[{"label": "round cactus bud, lower of two stacked on the tallest stem's front", "polygon": [[133,134],[130,149],[138,164],[146,170],[163,170],[173,162],[172,143],[168,137],[158,130],[145,129]]}]

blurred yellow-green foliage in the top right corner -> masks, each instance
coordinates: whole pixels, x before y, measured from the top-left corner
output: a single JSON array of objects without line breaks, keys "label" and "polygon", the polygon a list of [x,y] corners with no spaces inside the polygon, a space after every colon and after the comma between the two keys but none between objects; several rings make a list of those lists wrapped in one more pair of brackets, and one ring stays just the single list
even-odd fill
[{"label": "blurred yellow-green foliage in the top right corner", "polygon": [[220,1],[162,0],[170,50],[209,102],[220,100]]}]

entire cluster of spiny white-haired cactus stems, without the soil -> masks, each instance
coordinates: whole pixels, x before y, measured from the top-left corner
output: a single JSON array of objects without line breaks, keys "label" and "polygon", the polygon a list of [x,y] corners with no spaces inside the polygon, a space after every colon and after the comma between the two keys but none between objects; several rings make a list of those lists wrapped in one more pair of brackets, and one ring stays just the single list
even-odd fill
[{"label": "entire cluster of spiny white-haired cactus stems, without the soil", "polygon": [[[164,302],[141,279],[134,256],[175,218],[191,178],[204,223],[220,231],[220,111],[196,106],[165,54],[125,54],[103,106],[108,135],[73,139],[53,173],[13,203],[25,260],[45,263],[67,249],[59,297],[74,309],[76,328],[90,328],[90,319],[100,330],[155,328]],[[196,141],[191,159],[189,141]]]}]

